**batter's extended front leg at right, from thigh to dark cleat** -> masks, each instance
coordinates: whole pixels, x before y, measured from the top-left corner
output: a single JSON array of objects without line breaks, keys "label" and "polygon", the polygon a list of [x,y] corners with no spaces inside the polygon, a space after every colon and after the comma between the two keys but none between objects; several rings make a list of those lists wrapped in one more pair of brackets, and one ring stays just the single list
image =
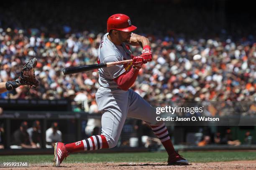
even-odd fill
[{"label": "batter's extended front leg at right, from thigh to dark cleat", "polygon": [[188,161],[175,152],[172,140],[164,122],[156,120],[158,116],[156,109],[144,100],[138,93],[129,90],[129,98],[131,99],[127,117],[133,117],[143,120],[151,126],[154,134],[161,140],[166,152],[169,155],[168,164],[188,165]]}]

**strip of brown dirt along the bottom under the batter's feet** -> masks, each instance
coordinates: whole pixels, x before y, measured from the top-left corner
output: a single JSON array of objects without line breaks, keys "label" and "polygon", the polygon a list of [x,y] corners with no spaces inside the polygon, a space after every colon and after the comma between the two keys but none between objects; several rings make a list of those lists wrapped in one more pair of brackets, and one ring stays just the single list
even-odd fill
[{"label": "strip of brown dirt along the bottom under the batter's feet", "polygon": [[[3,169],[3,168],[0,168]],[[29,168],[4,168],[5,170],[235,170],[256,169],[256,160],[216,163],[191,163],[188,166],[169,166],[163,163],[63,163],[54,168],[52,164],[30,165]]]}]

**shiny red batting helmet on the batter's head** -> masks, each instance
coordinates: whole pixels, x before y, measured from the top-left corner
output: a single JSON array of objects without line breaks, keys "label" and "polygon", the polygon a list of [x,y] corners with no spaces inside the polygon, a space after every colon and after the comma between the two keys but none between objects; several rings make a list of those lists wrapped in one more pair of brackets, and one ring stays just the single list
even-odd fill
[{"label": "shiny red batting helmet on the batter's head", "polygon": [[127,15],[114,14],[107,20],[107,30],[120,30],[124,32],[130,32],[136,30],[136,26],[131,25],[131,20]]}]

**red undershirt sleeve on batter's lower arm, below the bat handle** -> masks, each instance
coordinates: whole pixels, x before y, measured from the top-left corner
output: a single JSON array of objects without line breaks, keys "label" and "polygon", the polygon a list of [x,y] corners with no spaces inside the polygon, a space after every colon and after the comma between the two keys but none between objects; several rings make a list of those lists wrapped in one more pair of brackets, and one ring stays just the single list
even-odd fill
[{"label": "red undershirt sleeve on batter's lower arm, below the bat handle", "polygon": [[120,89],[127,91],[135,82],[138,72],[139,70],[133,70],[132,68],[129,72],[124,72],[113,80],[118,84]]}]

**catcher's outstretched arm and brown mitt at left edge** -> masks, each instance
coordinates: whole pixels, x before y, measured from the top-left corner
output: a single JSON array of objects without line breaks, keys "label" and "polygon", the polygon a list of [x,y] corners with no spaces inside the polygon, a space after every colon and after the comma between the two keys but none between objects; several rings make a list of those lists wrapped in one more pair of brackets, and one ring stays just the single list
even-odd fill
[{"label": "catcher's outstretched arm and brown mitt at left edge", "polygon": [[35,77],[34,67],[37,65],[36,58],[29,60],[22,68],[19,77],[15,81],[0,82],[0,93],[7,90],[13,90],[21,85],[30,85],[30,87],[37,87],[38,81]]}]

